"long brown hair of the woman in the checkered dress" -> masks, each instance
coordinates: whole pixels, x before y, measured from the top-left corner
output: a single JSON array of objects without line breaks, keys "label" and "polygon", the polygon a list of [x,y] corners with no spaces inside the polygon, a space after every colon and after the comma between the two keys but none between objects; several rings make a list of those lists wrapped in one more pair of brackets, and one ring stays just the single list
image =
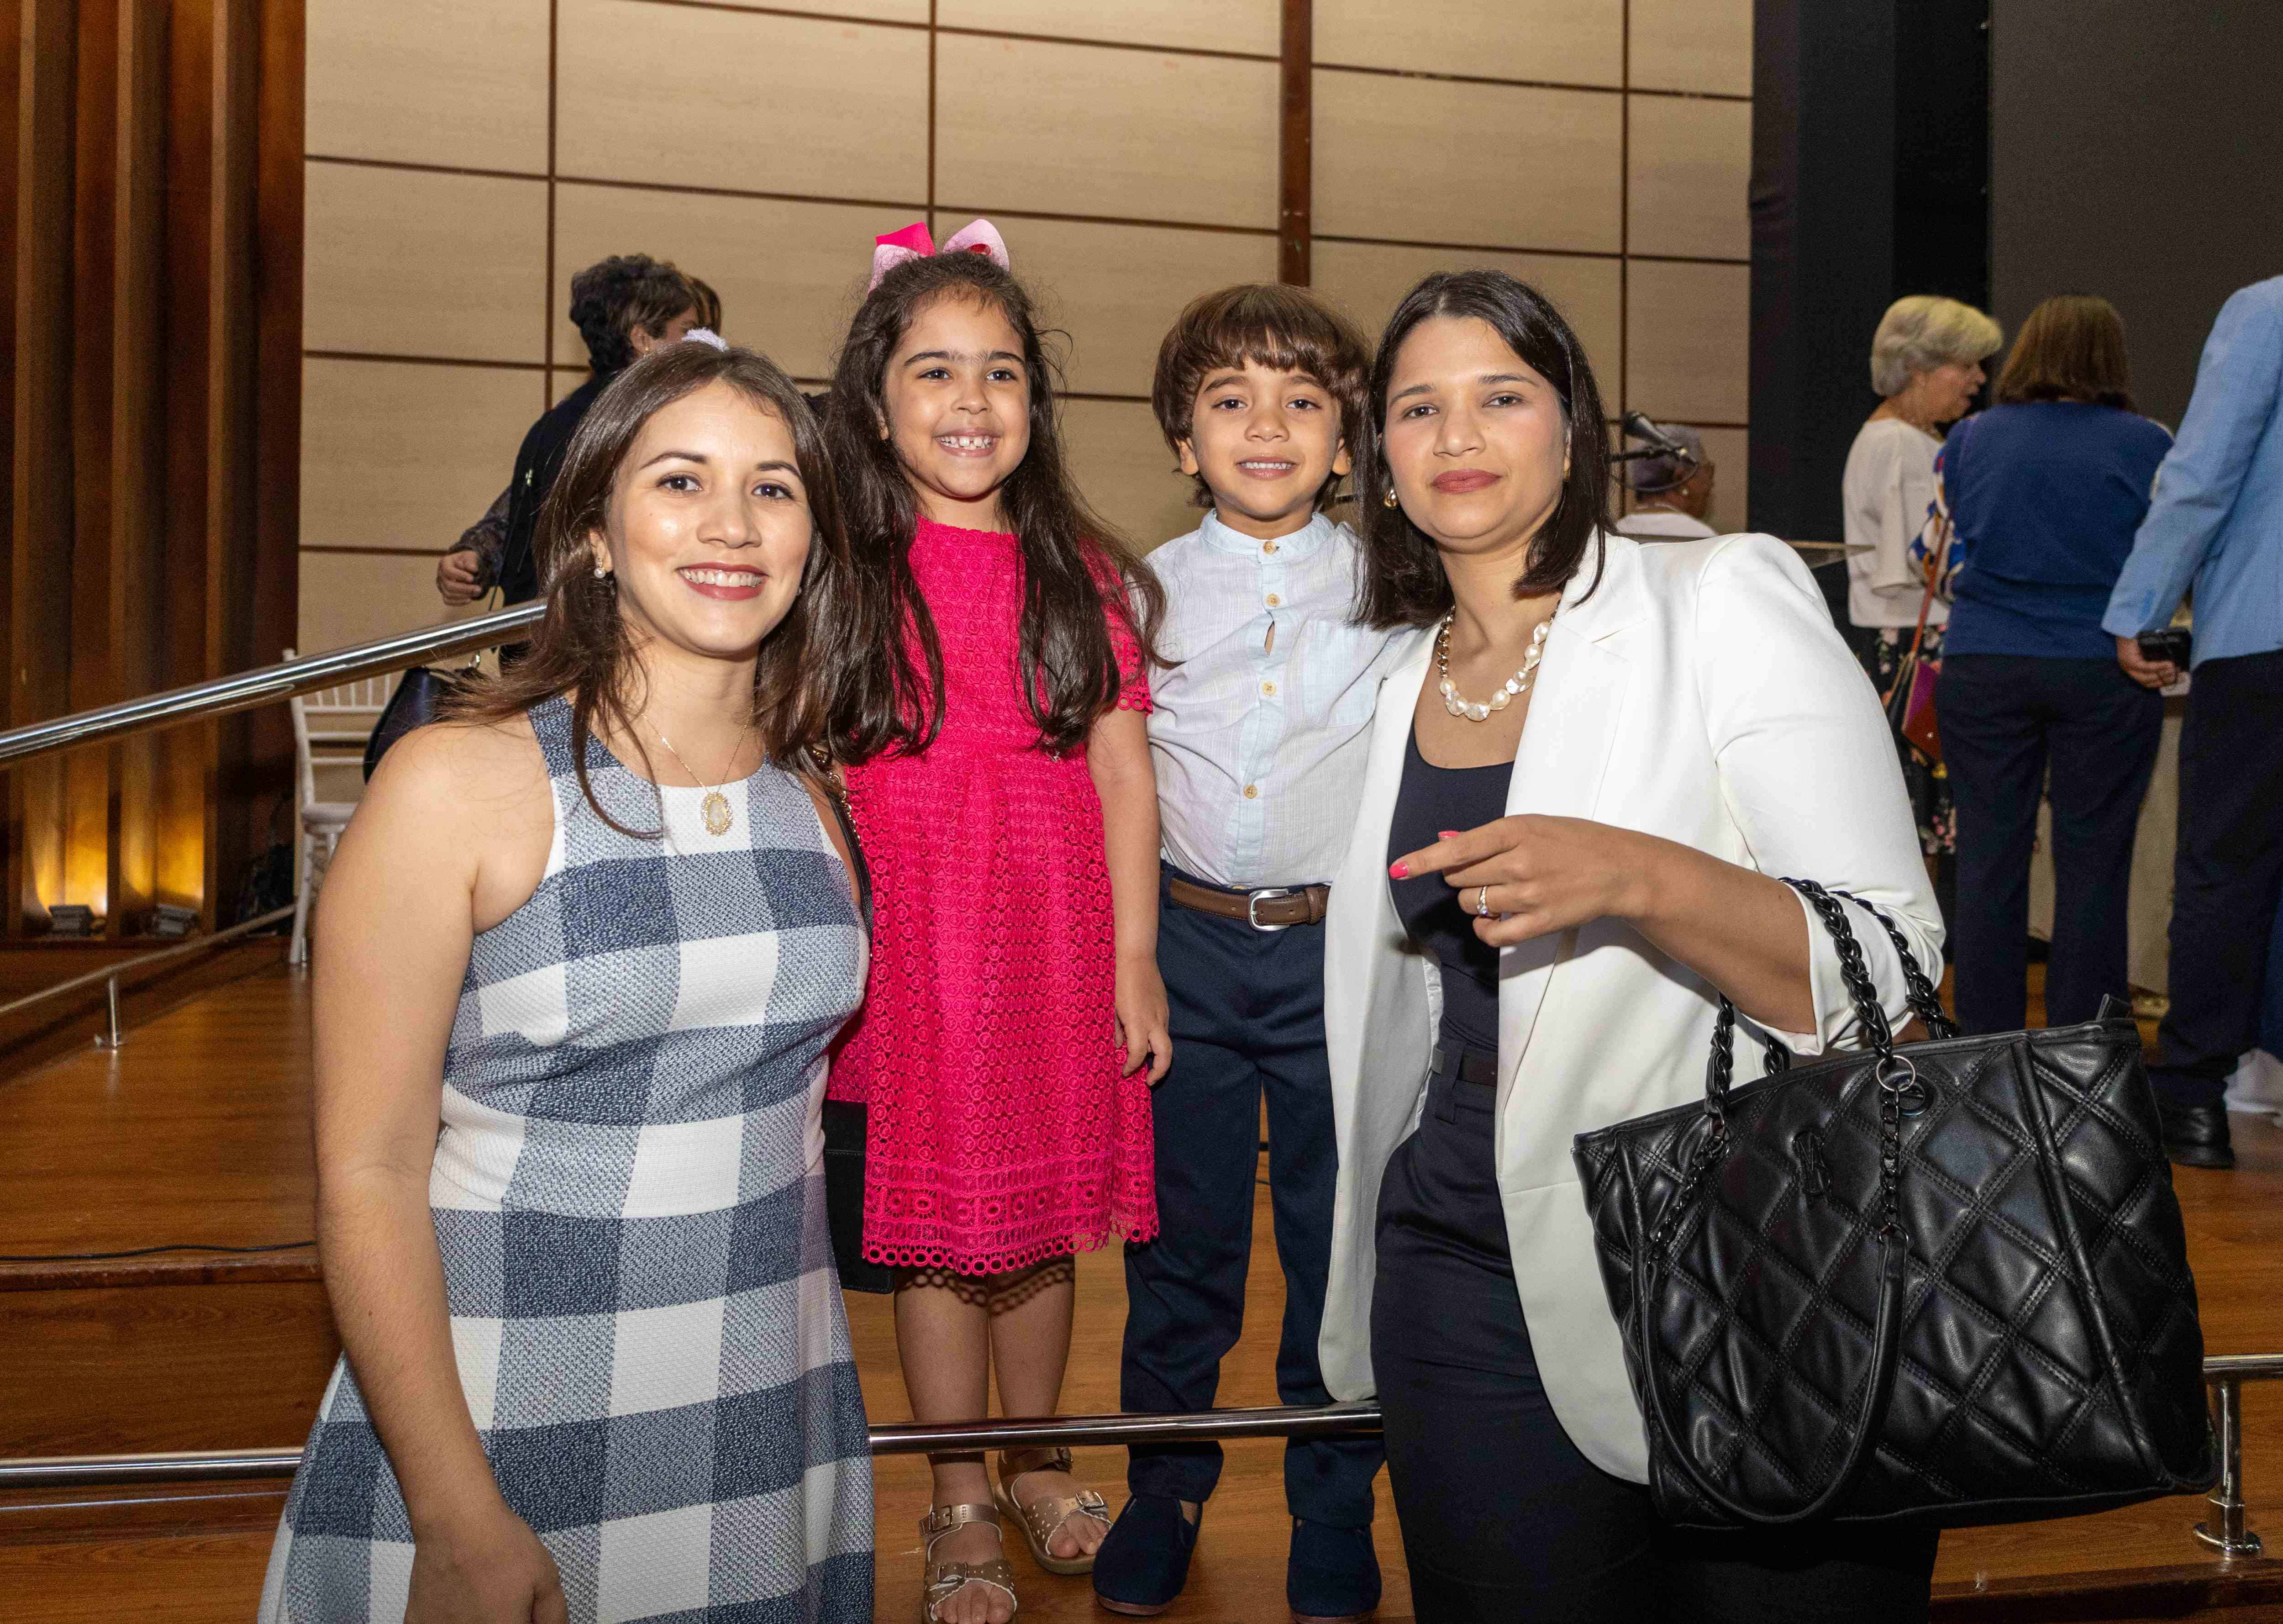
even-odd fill
[{"label": "long brown hair of the woman in the checkered dress", "polygon": [[527,653],[498,676],[475,683],[452,715],[468,722],[505,722],[541,699],[571,697],[571,758],[580,790],[596,815],[626,829],[594,797],[587,783],[587,740],[596,717],[621,738],[635,740],[632,717],[642,710],[642,660],[619,610],[616,578],[594,573],[589,537],[610,523],[610,496],[619,468],[642,427],[683,395],[708,384],[728,384],[792,429],[792,457],[808,491],[808,564],[801,592],[785,619],[760,644],[753,667],[753,726],[769,761],[792,772],[813,772],[824,749],[831,715],[829,683],[854,660],[849,624],[849,560],[840,530],[824,434],[792,379],[751,349],[715,349],[683,343],[653,349],[635,361],[596,397],[564,450],[562,473],[539,509],[539,578],[546,582],[548,614],[532,633]]}]

